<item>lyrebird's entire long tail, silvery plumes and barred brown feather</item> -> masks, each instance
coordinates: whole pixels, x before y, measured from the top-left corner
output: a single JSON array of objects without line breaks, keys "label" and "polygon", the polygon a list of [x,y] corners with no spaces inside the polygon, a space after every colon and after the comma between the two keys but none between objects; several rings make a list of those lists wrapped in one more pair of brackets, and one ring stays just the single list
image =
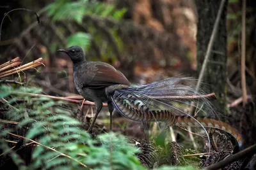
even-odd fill
[{"label": "lyrebird's entire long tail, silvery plumes and barred brown feather", "polygon": [[[167,78],[147,85],[117,89],[110,97],[115,109],[131,120],[164,121],[170,125],[202,127],[206,134],[204,127],[214,127],[229,132],[241,141],[239,132],[230,125],[212,118],[194,118],[188,114],[188,106],[193,104],[205,116],[216,116],[209,102],[215,98],[214,94],[196,92],[195,84],[196,80],[193,78]],[[208,134],[207,138],[209,139]]]}]

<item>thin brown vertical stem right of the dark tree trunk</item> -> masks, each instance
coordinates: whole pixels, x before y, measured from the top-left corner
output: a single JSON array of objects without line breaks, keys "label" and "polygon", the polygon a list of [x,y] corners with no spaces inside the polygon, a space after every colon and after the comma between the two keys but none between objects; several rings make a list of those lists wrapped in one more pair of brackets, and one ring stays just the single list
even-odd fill
[{"label": "thin brown vertical stem right of the dark tree trunk", "polygon": [[243,0],[242,8],[242,44],[241,44],[241,85],[243,92],[243,106],[247,103],[246,77],[245,77],[245,49],[246,49],[246,0]]}]

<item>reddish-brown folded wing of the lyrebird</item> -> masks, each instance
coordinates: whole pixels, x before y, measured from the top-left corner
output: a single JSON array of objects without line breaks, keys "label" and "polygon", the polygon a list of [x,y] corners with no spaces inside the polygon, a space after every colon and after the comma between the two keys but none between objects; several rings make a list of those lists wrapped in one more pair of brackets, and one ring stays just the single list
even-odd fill
[{"label": "reddish-brown folded wing of the lyrebird", "polygon": [[120,71],[105,62],[87,62],[87,71],[84,77],[84,86],[98,89],[109,85],[130,85],[131,83]]}]

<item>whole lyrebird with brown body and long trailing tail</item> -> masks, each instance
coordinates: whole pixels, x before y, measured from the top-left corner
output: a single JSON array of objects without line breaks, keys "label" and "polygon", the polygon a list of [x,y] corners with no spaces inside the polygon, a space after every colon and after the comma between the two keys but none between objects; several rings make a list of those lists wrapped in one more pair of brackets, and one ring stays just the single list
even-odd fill
[{"label": "whole lyrebird with brown body and long trailing tail", "polygon": [[[193,78],[166,78],[147,85],[131,87],[131,83],[124,74],[115,67],[105,62],[86,61],[83,50],[79,46],[70,46],[58,51],[67,53],[74,64],[74,83],[79,94],[84,99],[95,103],[96,114],[88,131],[92,130],[102,103],[108,103],[110,129],[112,112],[115,107],[120,114],[132,120],[170,120],[170,125],[195,125],[203,128],[202,124],[205,124],[207,127],[227,131],[240,139],[241,135],[237,134],[236,129],[230,125],[212,118],[193,118],[184,111],[191,101],[196,103],[193,106],[200,111],[212,110],[208,102],[209,96],[201,96],[195,90]],[[202,109],[205,106],[207,111]]]}]

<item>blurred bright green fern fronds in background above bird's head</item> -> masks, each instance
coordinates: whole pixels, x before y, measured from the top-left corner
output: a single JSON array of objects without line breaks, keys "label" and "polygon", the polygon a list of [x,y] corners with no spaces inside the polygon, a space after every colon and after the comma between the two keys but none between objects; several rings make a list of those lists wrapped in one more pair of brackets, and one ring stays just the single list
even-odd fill
[{"label": "blurred bright green fern fronds in background above bird's head", "polygon": [[[120,20],[126,11],[127,10],[125,8],[116,9],[114,5],[100,3],[98,1],[57,0],[48,6],[45,6],[45,8],[43,8],[39,13],[45,13],[53,22],[77,22],[77,24],[83,25],[83,27],[88,27],[90,25],[89,23],[83,23],[83,18],[86,15],[95,15],[100,18],[110,17],[115,20]],[[95,32],[94,26],[93,29],[88,27],[88,31],[89,30],[90,34],[88,32],[76,32],[69,36],[67,38],[68,46],[78,45],[88,50],[88,48],[90,48],[90,35],[96,34],[96,32],[99,34],[100,32],[98,30]],[[113,35],[116,43],[120,45],[120,48],[122,48],[122,41],[120,41],[120,38],[116,35],[115,29],[109,29],[107,32]],[[100,41],[102,41],[102,36],[100,36]]]}]

